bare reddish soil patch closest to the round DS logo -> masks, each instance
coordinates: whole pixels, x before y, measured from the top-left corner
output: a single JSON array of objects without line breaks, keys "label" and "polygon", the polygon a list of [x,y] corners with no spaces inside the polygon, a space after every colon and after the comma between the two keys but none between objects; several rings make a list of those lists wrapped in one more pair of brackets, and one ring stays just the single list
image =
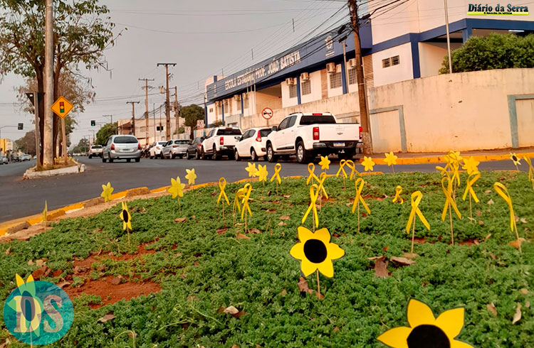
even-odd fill
[{"label": "bare reddish soil patch closest to the round DS logo", "polygon": [[114,277],[107,276],[105,278],[100,278],[96,281],[88,278],[87,281],[78,288],[66,287],[63,290],[71,297],[75,298],[80,296],[82,293],[88,295],[97,295],[102,299],[102,303],[99,304],[90,304],[90,308],[97,309],[104,305],[110,305],[112,303],[117,303],[118,301],[131,300],[132,298],[137,298],[140,295],[149,295],[150,293],[159,293],[162,290],[161,286],[158,283],[151,281],[143,282],[126,282],[113,285]]}]

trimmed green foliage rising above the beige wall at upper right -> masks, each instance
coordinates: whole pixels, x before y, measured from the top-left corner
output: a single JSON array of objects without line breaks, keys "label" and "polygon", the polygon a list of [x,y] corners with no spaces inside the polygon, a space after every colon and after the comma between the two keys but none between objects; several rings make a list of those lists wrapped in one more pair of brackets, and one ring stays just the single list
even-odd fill
[{"label": "trimmed green foliage rising above the beige wall at upper right", "polygon": [[[441,63],[440,74],[449,72],[448,60],[446,56]],[[464,45],[452,51],[451,60],[453,72],[534,67],[534,34],[471,36]]]}]

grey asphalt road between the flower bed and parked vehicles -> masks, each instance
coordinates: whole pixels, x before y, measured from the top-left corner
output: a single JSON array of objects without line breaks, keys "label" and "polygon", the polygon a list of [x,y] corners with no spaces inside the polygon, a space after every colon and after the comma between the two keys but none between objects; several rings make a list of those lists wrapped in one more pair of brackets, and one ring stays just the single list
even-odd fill
[{"label": "grey asphalt road between the flower bed and parked vehicles", "polygon": [[[170,185],[170,179],[178,175],[185,181],[186,168],[195,168],[197,183],[207,183],[219,180],[224,176],[229,182],[248,177],[245,162],[227,161],[197,161],[197,160],[162,160],[145,159],[140,163],[102,163],[100,158],[89,159],[78,157],[78,161],[85,163],[85,173],[65,175],[37,180],[22,180],[24,171],[35,161],[10,163],[0,165],[0,222],[37,214],[42,212],[45,200],[48,210],[54,210],[82,200],[99,197],[102,184],[108,181],[115,188],[115,192],[134,187],[149,187],[150,189]],[[274,163],[267,164],[270,175],[273,173]],[[332,164],[337,163],[333,161]],[[292,162],[281,162],[281,175],[308,175],[306,165]],[[337,165],[330,165],[329,174],[337,172]],[[412,172],[434,172],[435,164],[396,165],[395,170]],[[481,170],[515,170],[511,161],[493,161],[481,163]],[[525,170],[526,165],[521,165]],[[387,165],[375,165],[375,171],[390,173]],[[316,170],[318,172],[318,170]]]}]

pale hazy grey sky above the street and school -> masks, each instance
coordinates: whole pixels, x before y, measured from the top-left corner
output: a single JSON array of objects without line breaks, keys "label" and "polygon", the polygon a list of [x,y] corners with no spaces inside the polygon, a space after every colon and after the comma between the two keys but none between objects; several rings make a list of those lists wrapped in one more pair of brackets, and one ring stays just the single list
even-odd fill
[{"label": "pale hazy grey sky above the street and school", "polygon": [[[280,53],[321,24],[326,28],[348,21],[345,9],[325,22],[346,7],[341,0],[101,0],[100,4],[110,9],[115,34],[122,34],[105,51],[110,72],[83,71],[91,79],[96,99],[83,114],[74,114],[78,126],[71,135],[73,144],[98,131],[90,120],[108,122],[106,114],[112,114],[113,121],[129,119],[129,101],[140,102],[135,104],[135,114],[142,115],[145,82],[140,78],[155,80],[150,82],[156,87],[150,91],[150,109],[162,104],[164,94],[157,87],[164,85],[165,70],[157,67],[158,62],[177,64],[169,66],[169,87],[178,86],[180,104],[188,105],[203,100],[207,77],[229,75]],[[33,129],[33,115],[20,112],[14,104],[14,89],[23,85],[23,78],[6,74],[0,80],[0,127],[24,124],[23,131],[1,129],[1,137],[16,140]]]}]

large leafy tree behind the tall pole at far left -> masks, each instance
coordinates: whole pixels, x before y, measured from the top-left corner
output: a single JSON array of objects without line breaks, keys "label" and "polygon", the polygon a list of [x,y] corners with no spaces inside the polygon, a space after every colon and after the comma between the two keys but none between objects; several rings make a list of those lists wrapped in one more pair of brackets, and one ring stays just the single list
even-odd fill
[{"label": "large leafy tree behind the tall pole at far left", "polygon": [[[44,92],[44,24],[45,1],[0,0],[0,61],[6,72],[23,77],[35,77],[36,92]],[[114,45],[115,39],[109,12],[98,0],[54,0],[54,91],[57,99],[58,81],[65,71],[81,76],[78,66],[87,69],[107,69],[103,50]],[[121,33],[118,34],[119,36]],[[43,143],[44,100],[39,103],[39,126]],[[58,117],[54,116],[53,131],[58,134]],[[53,136],[54,141],[57,136]],[[45,148],[45,146],[43,146]],[[56,146],[53,146],[56,148]],[[43,154],[40,161],[42,163]]]}]

